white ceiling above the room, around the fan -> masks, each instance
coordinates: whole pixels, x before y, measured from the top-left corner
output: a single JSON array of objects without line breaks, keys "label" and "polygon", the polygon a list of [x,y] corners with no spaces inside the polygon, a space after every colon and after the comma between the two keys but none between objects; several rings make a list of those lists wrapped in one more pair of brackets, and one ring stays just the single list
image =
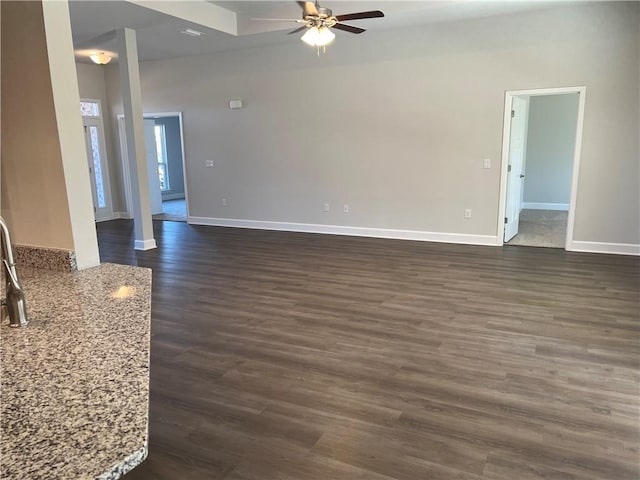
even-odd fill
[{"label": "white ceiling above the room, around the fan", "polygon": [[[141,2],[139,2],[141,3]],[[425,0],[425,1],[343,1],[327,0],[321,6],[331,8],[334,15],[363,10],[382,10],[384,18],[357,20],[351,23],[368,30],[394,29],[434,22],[450,22],[490,15],[502,15],[540,8],[575,3],[559,0]],[[174,8],[174,15],[160,13],[153,8]],[[286,33],[298,27],[291,22],[253,21],[251,18],[301,17],[301,9],[295,1],[206,1],[175,0],[173,2],[148,1],[146,8],[129,1],[71,0],[71,28],[78,61],[88,61],[88,52],[104,50],[115,52],[113,32],[128,27],[137,32],[138,52],[141,61],[159,60],[180,56],[215,53],[240,48],[293,42],[300,35]],[[210,28],[215,22],[205,16],[181,15],[180,9],[189,7],[218,7],[235,12],[239,35],[230,35]],[[178,16],[183,18],[179,18]],[[212,17],[215,12],[212,12]],[[198,18],[188,21],[185,18]],[[204,24],[204,25],[203,25]],[[209,25],[209,26],[205,26]],[[192,28],[205,33],[202,37],[189,37],[180,30]],[[363,35],[366,35],[365,32]],[[349,36],[346,32],[337,35]]]}]

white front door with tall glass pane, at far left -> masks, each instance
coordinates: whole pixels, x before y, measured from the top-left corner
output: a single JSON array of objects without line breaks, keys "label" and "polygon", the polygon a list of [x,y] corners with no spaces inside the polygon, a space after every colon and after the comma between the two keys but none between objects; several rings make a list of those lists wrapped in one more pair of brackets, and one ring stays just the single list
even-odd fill
[{"label": "white front door with tall glass pane, at far left", "polygon": [[84,122],[95,220],[96,222],[111,220],[113,218],[113,210],[111,207],[111,188],[109,186],[109,170],[102,121],[97,117],[82,117],[82,119]]}]

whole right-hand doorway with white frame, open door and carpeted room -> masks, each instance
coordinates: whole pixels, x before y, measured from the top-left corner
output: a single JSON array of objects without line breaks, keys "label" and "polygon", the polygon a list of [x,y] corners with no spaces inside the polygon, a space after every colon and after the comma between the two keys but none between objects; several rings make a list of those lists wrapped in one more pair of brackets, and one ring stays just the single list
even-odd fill
[{"label": "whole right-hand doorway with white frame, open door and carpeted room", "polygon": [[585,87],[506,93],[501,244],[571,250]]}]

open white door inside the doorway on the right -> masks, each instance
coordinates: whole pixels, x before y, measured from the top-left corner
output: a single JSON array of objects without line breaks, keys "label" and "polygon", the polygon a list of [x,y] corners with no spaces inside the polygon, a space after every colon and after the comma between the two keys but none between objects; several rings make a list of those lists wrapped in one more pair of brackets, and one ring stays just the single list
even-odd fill
[{"label": "open white door inside the doorway on the right", "polygon": [[504,241],[518,234],[522,186],[524,183],[524,155],[527,138],[529,98],[513,97],[511,104],[511,136],[509,138],[509,164],[507,167],[507,203],[505,209]]}]

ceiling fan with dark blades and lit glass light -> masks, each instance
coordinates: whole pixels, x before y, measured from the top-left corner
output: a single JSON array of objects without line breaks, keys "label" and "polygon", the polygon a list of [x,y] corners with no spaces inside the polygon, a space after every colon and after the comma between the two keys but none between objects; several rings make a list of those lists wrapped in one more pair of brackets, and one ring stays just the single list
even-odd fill
[{"label": "ceiling fan with dark blades and lit glass light", "polygon": [[344,20],[363,20],[366,18],[384,17],[380,10],[368,12],[347,13],[344,15],[333,15],[329,8],[321,7],[318,0],[314,2],[296,2],[302,7],[302,18],[254,18],[252,20],[276,20],[302,23],[301,27],[289,32],[289,35],[306,30],[301,40],[313,47],[325,47],[333,41],[335,34],[330,30],[335,28],[349,33],[360,34],[366,31],[364,28],[355,27],[342,23]]}]

